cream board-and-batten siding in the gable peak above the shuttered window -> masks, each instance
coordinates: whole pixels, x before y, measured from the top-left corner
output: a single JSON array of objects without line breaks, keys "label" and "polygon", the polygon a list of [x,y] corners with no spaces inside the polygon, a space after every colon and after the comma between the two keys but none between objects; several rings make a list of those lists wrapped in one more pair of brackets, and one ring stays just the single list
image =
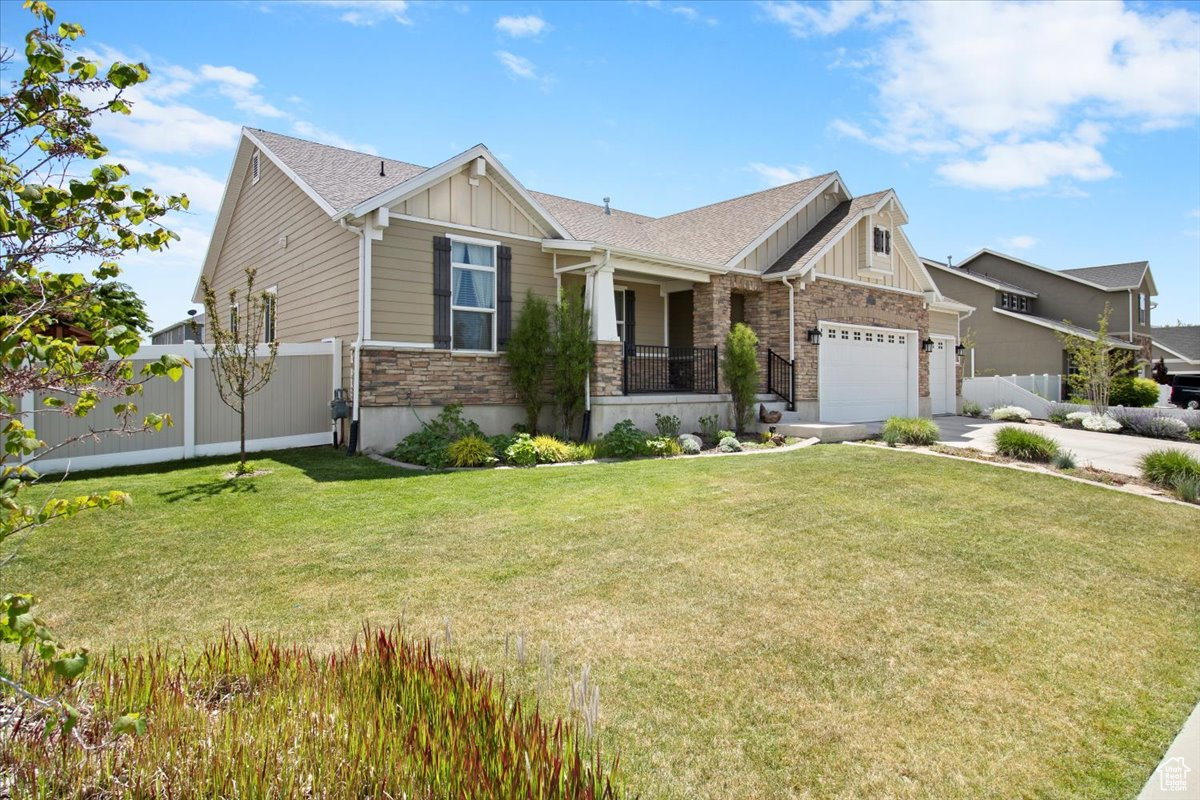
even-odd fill
[{"label": "cream board-and-batten siding in the gable peak above the shuttered window", "polygon": [[418,192],[392,210],[422,219],[439,219],[497,233],[539,239],[550,235],[514,204],[490,178],[478,178],[476,182],[476,186],[472,186],[467,173],[460,172]]}]

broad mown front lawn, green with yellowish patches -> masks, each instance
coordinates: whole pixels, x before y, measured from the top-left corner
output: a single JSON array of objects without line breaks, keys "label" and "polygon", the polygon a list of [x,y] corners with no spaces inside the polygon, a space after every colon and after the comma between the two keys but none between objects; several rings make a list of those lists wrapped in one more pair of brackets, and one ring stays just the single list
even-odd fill
[{"label": "broad mown front lawn, green with yellowish patches", "polygon": [[[886,450],[407,474],[329,451],[72,481],[5,585],[67,643],[402,620],[565,712],[646,798],[1133,796],[1200,698],[1200,516]],[[506,640],[523,633],[527,663]],[[539,666],[545,646],[552,669]],[[152,723],[152,720],[151,720]]]}]

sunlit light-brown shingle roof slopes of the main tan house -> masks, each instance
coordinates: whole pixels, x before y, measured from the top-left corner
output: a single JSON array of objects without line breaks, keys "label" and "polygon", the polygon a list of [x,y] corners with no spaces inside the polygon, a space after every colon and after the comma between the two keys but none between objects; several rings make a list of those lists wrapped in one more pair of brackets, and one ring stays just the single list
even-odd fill
[{"label": "sunlit light-brown shingle roof slopes of the main tan house", "polygon": [[[420,175],[426,167],[365,152],[247,128],[336,212]],[[379,176],[379,162],[384,176]],[[682,260],[721,265],[767,231],[833,173],[754,192],[665,217],[649,217],[556,194],[529,192],[566,231],[581,241]],[[878,194],[853,203],[878,199]],[[820,225],[818,225],[820,227]]]}]

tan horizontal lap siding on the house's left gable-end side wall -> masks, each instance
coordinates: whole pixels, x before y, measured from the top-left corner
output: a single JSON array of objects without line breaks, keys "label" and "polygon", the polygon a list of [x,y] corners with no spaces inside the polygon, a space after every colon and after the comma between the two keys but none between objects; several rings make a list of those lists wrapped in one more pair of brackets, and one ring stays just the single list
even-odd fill
[{"label": "tan horizontal lap siding on the house's left gable-end side wall", "polygon": [[[254,267],[256,290],[277,287],[276,338],[340,338],[342,380],[349,387],[349,347],[358,335],[358,236],[330,219],[266,156],[260,158],[257,184],[248,167],[238,180],[236,205],[212,275],[218,305],[227,305],[230,289],[245,295],[244,270]],[[227,323],[227,308],[220,311]],[[328,385],[323,391],[329,392]]]}]

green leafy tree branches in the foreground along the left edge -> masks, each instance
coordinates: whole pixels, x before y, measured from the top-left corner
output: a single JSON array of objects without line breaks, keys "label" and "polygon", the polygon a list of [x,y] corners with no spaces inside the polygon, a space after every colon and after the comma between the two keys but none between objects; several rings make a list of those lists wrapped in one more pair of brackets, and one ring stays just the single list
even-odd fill
[{"label": "green leafy tree branches in the foreground along the left edge", "polygon": [[[160,219],[187,207],[186,196],[163,197],[122,182],[128,172],[106,163],[108,150],[92,124],[128,114],[125,92],[149,78],[140,64],[115,62],[101,73],[71,55],[83,36],[73,23],[55,24],[46,2],[25,2],[36,28],[25,36],[25,67],[0,96],[0,566],[37,528],[128,500],[124,492],[56,497],[26,503],[40,458],[80,439],[131,434],[170,425],[162,414],[139,416],[137,397],[155,375],[178,379],[185,361],[164,356],[134,371],[128,361],[149,319],[137,296],[116,283],[116,259],[157,251],[178,239]],[[0,64],[14,61],[0,53]],[[86,263],[91,271],[61,267]],[[50,267],[58,266],[59,270]],[[23,398],[41,398],[34,408]],[[112,417],[85,433],[48,444],[37,437],[42,414],[86,417],[104,398],[119,398]],[[36,599],[0,594],[0,643],[32,651],[70,680],[88,664],[86,650],[67,650],[37,619]],[[54,698],[32,697],[0,668],[4,685],[65,729],[74,711]]]}]

